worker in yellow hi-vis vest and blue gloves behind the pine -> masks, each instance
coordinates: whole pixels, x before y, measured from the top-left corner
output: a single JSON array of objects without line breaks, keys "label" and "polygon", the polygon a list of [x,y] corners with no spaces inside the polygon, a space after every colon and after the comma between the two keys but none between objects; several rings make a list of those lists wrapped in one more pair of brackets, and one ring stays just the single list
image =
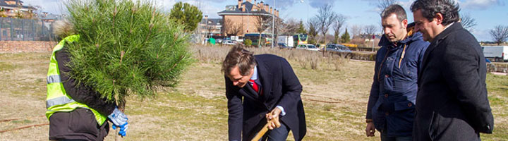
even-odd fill
[{"label": "worker in yellow hi-vis vest and blue gloves behind the pine", "polygon": [[67,46],[80,38],[69,30],[72,27],[65,20],[54,25],[55,34],[64,39],[54,47],[47,73],[49,140],[104,140],[109,132],[108,119],[113,129],[120,128],[119,134],[125,136],[127,116],[116,104],[86,85],[76,85],[69,77],[72,64]]}]

